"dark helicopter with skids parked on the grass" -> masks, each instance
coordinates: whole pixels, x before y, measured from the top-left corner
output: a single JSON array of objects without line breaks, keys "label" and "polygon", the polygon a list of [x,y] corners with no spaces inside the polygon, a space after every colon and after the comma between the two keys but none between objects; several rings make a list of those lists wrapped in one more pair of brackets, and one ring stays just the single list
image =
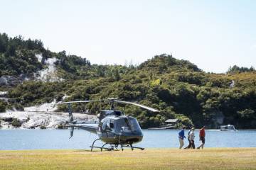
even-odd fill
[{"label": "dark helicopter with skids parked on the grass", "polygon": [[[90,103],[90,102],[109,102],[110,110],[102,110],[97,114],[97,118],[99,119],[98,123],[77,123],[73,118],[73,103]],[[122,151],[124,147],[129,147],[132,150],[134,149],[142,149],[143,147],[134,147],[135,143],[141,142],[143,139],[142,128],[140,127],[136,118],[133,118],[129,115],[124,115],[122,111],[117,111],[116,106],[117,103],[122,104],[132,104],[134,106],[139,106],[141,108],[145,108],[146,110],[152,112],[159,112],[154,108],[150,108],[148,106],[144,106],[138,103],[133,103],[129,101],[119,101],[117,98],[107,98],[104,100],[95,100],[95,101],[67,101],[61,102],[58,104],[68,104],[68,113],[70,122],[68,123],[68,127],[70,127],[70,138],[73,137],[74,128],[79,128],[82,130],[87,130],[88,132],[92,132],[97,134],[98,138],[92,142],[90,146],[91,151],[93,148],[106,149],[106,150],[119,150],[120,146]],[[97,140],[101,140],[104,145],[101,147],[95,146],[95,142]],[[106,147],[109,145],[109,147]]]}]

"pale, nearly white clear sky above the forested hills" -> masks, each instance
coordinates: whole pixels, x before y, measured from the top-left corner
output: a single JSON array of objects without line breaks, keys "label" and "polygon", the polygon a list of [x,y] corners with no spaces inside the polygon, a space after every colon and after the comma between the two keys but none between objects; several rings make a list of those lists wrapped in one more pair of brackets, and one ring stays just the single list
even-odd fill
[{"label": "pale, nearly white clear sky above the forested hills", "polygon": [[0,0],[0,33],[92,64],[172,54],[206,72],[256,67],[253,0]]}]

